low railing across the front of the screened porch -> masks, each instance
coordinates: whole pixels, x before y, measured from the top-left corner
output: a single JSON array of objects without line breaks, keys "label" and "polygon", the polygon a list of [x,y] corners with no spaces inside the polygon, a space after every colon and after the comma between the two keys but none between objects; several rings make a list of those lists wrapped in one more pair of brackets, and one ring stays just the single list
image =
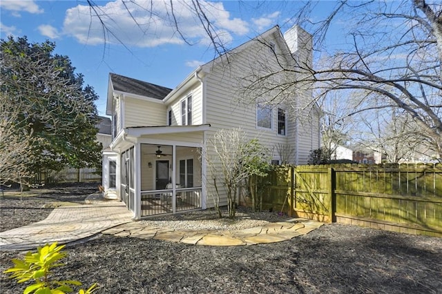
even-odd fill
[{"label": "low railing across the front of the screened porch", "polygon": [[149,190],[141,193],[141,216],[160,215],[201,208],[201,188],[177,188],[175,209],[173,190]]}]

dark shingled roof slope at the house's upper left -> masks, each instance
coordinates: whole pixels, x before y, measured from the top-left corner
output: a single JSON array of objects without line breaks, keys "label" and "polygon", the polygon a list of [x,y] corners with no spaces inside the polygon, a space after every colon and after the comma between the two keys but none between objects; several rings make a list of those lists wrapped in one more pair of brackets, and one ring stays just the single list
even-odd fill
[{"label": "dark shingled roof slope at the house's upper left", "polygon": [[109,74],[113,90],[126,92],[130,94],[140,95],[153,99],[162,100],[166,97],[172,89],[140,81],[139,79],[132,79],[131,77],[124,77],[114,73]]}]

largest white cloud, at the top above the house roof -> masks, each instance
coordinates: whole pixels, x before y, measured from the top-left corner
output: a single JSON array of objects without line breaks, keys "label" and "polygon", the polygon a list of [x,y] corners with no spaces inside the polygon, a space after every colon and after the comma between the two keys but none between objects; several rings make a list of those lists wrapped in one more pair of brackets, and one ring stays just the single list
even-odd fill
[{"label": "largest white cloud, at the top above the house roof", "polygon": [[[106,30],[103,30],[97,13],[91,17],[89,6],[79,5],[66,11],[64,34],[80,43],[92,45],[104,41],[138,47],[182,44],[184,40],[180,33],[189,43],[210,43],[191,3],[180,0],[172,4],[173,9],[170,1],[137,1],[135,5],[129,1],[123,3],[122,0],[115,0],[103,6],[94,6]],[[200,1],[200,5],[222,41],[230,42],[232,34],[245,35],[249,31],[247,22],[232,19],[222,3]],[[175,29],[172,11],[180,32]]]}]

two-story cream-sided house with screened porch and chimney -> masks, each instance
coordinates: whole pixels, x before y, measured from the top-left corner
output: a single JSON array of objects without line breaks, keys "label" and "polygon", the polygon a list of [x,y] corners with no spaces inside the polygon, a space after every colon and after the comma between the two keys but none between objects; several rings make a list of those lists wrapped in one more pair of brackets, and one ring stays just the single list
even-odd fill
[{"label": "two-story cream-sided house with screened porch and chimney", "polygon": [[[273,163],[282,159],[276,145],[283,144],[293,149],[292,164],[305,164],[320,146],[320,111],[315,106],[302,112],[301,101],[310,102],[312,92],[293,81],[306,73],[287,68],[311,66],[311,59],[305,30],[294,26],[282,35],[275,26],[199,66],[174,89],[111,73],[106,197],[121,199],[134,219],[213,207],[204,144],[218,130],[238,126],[273,150]],[[292,88],[281,86],[286,80]],[[227,205],[227,197],[221,202]]]}]

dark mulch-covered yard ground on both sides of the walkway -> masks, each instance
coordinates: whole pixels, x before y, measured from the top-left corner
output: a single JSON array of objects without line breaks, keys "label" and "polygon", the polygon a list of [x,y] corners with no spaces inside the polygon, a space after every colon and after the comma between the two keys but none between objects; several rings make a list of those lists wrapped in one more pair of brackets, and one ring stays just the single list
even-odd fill
[{"label": "dark mulch-covered yard ground on both sides of the walkway", "polygon": [[[23,201],[1,197],[0,229],[37,222],[58,202],[83,203],[96,190],[90,184]],[[276,219],[256,217],[266,215]],[[97,235],[66,251],[55,275],[85,287],[97,282],[95,293],[442,293],[442,238],[340,224],[275,244],[209,247]],[[0,271],[23,254],[0,251]],[[1,273],[1,293],[24,288]]]}]

